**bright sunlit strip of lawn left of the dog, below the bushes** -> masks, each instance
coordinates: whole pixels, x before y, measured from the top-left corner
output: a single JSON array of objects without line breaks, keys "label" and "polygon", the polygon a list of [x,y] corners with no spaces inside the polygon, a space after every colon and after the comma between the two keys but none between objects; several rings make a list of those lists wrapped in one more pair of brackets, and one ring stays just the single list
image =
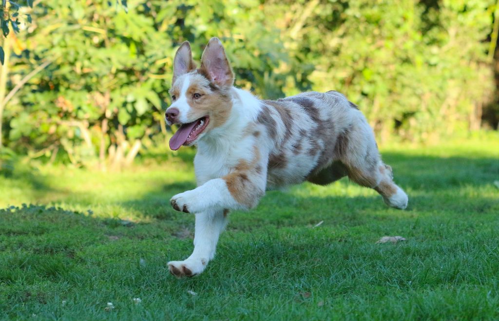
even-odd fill
[{"label": "bright sunlit strip of lawn left of the dog, below the bushes", "polygon": [[[165,166],[168,168],[168,166]],[[147,169],[146,169],[147,168]],[[43,188],[31,186],[25,178],[1,177],[5,191],[0,204],[66,202],[89,206],[126,202],[150,193],[164,193],[163,186],[171,184],[179,188],[190,186],[194,174],[179,166],[178,170],[164,170],[160,166],[142,167],[123,172],[99,172],[87,169],[43,167],[36,174]],[[182,184],[186,181],[186,184]],[[169,198],[168,198],[169,199]]]}]

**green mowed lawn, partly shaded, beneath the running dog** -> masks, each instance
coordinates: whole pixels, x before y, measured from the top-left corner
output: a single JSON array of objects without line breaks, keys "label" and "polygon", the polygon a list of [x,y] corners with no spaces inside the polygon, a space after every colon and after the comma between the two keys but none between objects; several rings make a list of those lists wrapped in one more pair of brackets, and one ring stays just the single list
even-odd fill
[{"label": "green mowed lawn, partly shaded, beneath the running dog", "polygon": [[[231,213],[215,260],[182,280],[166,263],[191,254],[194,217],[169,199],[195,186],[189,161],[19,165],[0,176],[0,207],[18,206],[0,211],[0,317],[497,320],[498,136],[382,153],[407,210],[346,178],[270,191]],[[376,244],[385,235],[407,241]]]}]

